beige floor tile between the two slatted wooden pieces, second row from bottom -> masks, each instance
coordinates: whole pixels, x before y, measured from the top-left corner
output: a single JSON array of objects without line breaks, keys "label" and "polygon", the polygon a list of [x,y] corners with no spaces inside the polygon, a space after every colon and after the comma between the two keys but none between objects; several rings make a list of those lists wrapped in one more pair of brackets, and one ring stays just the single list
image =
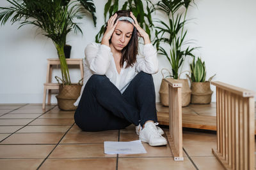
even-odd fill
[{"label": "beige floor tile between the two slatted wooden pieces, second row from bottom", "polygon": [[216,143],[183,143],[183,148],[190,157],[213,157],[212,148],[216,147]]}]

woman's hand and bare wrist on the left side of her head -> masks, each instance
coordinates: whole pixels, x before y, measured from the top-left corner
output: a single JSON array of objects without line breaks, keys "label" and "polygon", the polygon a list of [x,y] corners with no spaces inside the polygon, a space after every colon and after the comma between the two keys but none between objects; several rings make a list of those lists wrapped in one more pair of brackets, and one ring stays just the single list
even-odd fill
[{"label": "woman's hand and bare wrist on the left side of her head", "polygon": [[[107,30],[104,33],[103,37],[102,37],[102,41],[101,41],[102,45],[108,45],[109,46],[109,39],[111,38],[113,32],[115,31],[115,27],[118,23],[118,20],[116,20],[116,17],[117,17],[117,14],[115,13],[114,15],[112,15],[109,18]],[[116,23],[115,23],[115,20],[116,20]]]}]

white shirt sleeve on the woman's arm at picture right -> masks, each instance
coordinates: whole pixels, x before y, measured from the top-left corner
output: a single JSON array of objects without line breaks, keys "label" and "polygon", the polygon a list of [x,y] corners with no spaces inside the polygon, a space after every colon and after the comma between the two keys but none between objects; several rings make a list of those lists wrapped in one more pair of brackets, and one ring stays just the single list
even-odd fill
[{"label": "white shirt sleeve on the woman's arm at picture right", "polygon": [[151,43],[144,45],[143,55],[136,57],[136,72],[143,71],[148,74],[156,74],[159,69],[156,48]]}]

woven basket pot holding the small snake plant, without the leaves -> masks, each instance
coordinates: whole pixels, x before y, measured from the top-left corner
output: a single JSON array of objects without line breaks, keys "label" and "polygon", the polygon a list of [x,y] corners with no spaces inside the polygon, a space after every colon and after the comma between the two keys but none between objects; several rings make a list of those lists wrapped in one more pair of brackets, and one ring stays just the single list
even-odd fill
[{"label": "woven basket pot holding the small snake plant, without the leaves", "polygon": [[191,83],[191,103],[209,104],[212,99],[210,81]]}]

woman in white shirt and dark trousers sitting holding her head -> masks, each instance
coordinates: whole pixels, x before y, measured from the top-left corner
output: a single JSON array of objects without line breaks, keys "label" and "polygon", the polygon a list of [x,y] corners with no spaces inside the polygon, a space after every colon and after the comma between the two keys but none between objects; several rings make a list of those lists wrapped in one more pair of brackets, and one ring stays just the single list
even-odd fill
[{"label": "woman in white shirt and dark trousers sitting holding her head", "polygon": [[[138,36],[144,39],[138,55]],[[166,145],[156,127],[156,94],[151,74],[158,71],[156,49],[130,11],[109,18],[100,44],[85,49],[84,87],[74,119],[83,131],[123,129],[136,125],[141,141]],[[136,74],[136,72],[138,74]]]}]

